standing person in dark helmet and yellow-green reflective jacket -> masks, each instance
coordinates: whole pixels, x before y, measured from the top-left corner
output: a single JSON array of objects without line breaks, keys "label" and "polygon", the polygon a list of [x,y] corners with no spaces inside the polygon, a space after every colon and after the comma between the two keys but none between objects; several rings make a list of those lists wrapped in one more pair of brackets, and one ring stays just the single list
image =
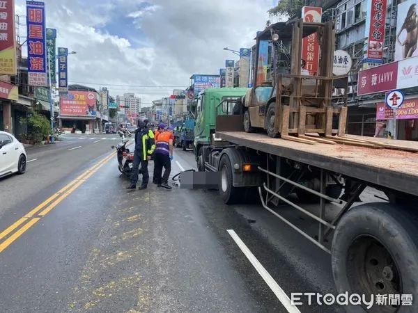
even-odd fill
[{"label": "standing person in dark helmet and yellow-green reflective jacket", "polygon": [[141,164],[142,184],[139,189],[146,189],[148,186],[148,161],[155,150],[154,133],[148,129],[148,119],[139,118],[138,128],[135,131],[135,152],[132,165],[131,184],[127,189],[136,189],[138,182],[139,164]]}]

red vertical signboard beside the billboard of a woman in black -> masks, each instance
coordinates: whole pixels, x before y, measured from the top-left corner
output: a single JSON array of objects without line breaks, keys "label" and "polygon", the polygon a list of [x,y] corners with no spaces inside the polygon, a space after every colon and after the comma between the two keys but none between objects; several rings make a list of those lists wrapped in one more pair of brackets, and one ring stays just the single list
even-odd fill
[{"label": "red vertical signboard beside the billboard of a woman in black", "polygon": [[381,61],[385,44],[387,0],[371,0],[367,58]]}]

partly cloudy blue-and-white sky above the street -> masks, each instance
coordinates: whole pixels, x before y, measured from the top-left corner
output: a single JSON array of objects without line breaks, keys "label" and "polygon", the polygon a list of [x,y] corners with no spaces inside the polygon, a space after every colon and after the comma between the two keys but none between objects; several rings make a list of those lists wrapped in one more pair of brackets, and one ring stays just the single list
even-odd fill
[{"label": "partly cloudy blue-and-white sky above the street", "polygon": [[[143,106],[189,86],[192,74],[218,74],[224,47],[254,45],[272,0],[45,0],[47,27],[68,58],[70,83],[107,87],[112,96],[136,93]],[[25,1],[15,0],[21,41]],[[24,46],[26,50],[26,46]],[[26,55],[26,51],[24,51]]]}]

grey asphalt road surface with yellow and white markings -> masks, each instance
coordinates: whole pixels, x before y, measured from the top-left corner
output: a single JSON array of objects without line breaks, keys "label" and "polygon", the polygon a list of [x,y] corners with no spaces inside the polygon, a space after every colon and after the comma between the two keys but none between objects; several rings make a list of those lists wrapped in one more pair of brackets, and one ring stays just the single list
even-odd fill
[{"label": "grey asphalt road surface with yellow and white markings", "polygon": [[[27,172],[0,180],[0,312],[297,312],[292,292],[336,293],[330,256],[258,204],[125,191],[113,137],[29,148]],[[172,164],[194,168],[192,152]]]}]

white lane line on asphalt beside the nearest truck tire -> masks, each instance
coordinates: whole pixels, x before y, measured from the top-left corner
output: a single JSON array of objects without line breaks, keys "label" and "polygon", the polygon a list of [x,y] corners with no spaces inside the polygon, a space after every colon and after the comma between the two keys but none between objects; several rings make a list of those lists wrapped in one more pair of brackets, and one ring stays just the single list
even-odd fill
[{"label": "white lane line on asphalt beside the nearest truck tire", "polygon": [[268,287],[272,289],[272,291],[277,296],[281,304],[286,308],[286,310],[292,313],[300,313],[300,310],[297,309],[297,307],[291,303],[291,299],[286,295],[283,289],[281,289],[279,284],[277,284],[277,282],[272,278],[268,271],[265,270],[263,265],[261,265],[261,263],[258,262],[258,259],[256,259],[256,257],[252,254],[249,248],[245,246],[245,243],[240,239],[238,234],[234,230],[227,230],[227,232],[229,232],[233,241],[235,241],[235,243],[238,245],[241,251],[245,254],[249,262],[251,262],[252,266],[256,268],[258,274],[260,274],[263,280],[268,284]]}]

